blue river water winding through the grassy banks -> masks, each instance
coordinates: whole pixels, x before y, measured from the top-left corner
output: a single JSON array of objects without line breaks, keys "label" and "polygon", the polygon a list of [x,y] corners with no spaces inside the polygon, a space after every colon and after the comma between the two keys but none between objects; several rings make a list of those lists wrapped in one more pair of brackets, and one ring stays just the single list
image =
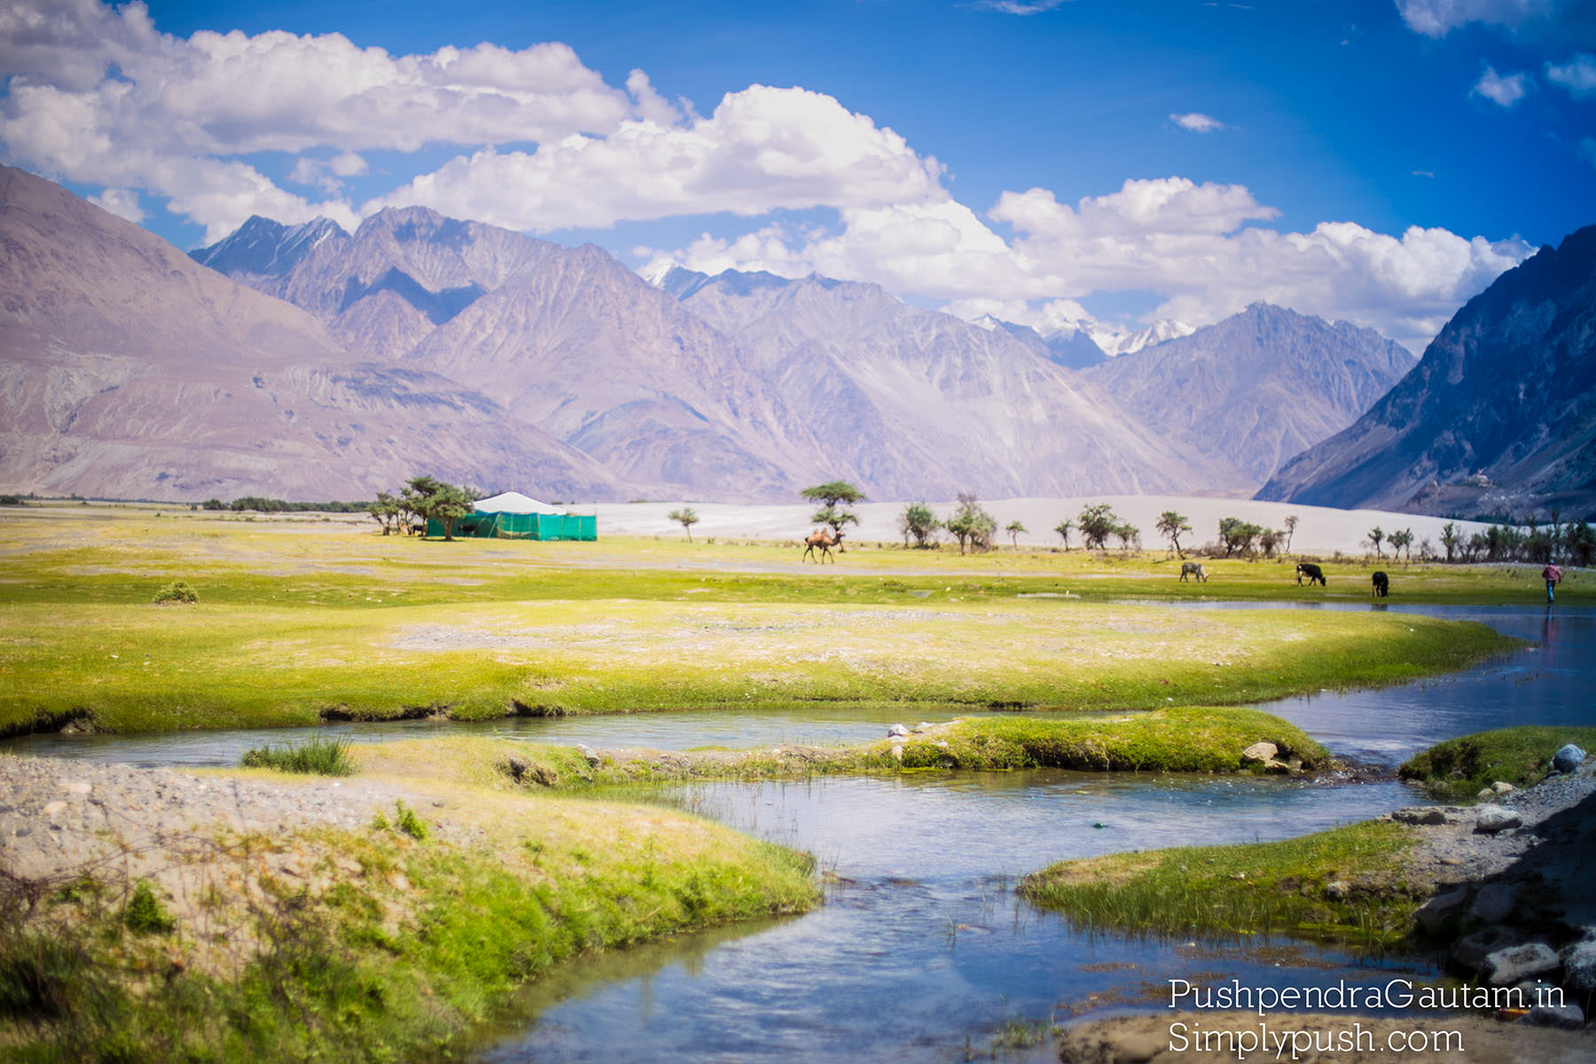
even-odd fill
[{"label": "blue river water winding through the grassy banks", "polygon": [[[1596,611],[1390,609],[1483,621],[1537,646],[1454,676],[1262,708],[1341,756],[1387,767],[1472,731],[1596,723]],[[681,748],[875,739],[897,719],[900,710],[879,707],[846,718],[650,713],[318,731],[365,740],[496,729],[538,742]],[[145,764],[230,764],[249,745],[287,735],[43,735],[8,747]],[[1012,884],[1061,858],[1280,839],[1424,801],[1389,778],[1055,770],[713,783],[667,799],[812,852],[832,882],[825,904],[788,920],[567,965],[504,1010],[484,1035],[479,1061],[958,1061],[991,1053],[1005,1024],[1157,1008],[1170,978],[1258,986],[1385,978],[1368,964],[1294,943],[1084,935],[1026,906]],[[1047,1059],[1047,1048],[1001,1056]]]}]

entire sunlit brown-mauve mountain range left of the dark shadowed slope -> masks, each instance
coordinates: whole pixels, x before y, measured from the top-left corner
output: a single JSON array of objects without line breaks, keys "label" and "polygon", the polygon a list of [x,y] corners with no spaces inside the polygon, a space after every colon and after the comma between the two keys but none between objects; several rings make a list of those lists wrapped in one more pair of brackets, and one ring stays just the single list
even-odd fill
[{"label": "entire sunlit brown-mauve mountain range left of the dark shadowed slope", "polygon": [[838,477],[878,499],[1248,493],[1411,365],[1264,305],[1108,359],[1084,330],[873,284],[650,284],[421,207],[354,233],[251,219],[185,257],[14,169],[0,241],[0,488],[21,491],[370,498],[433,472],[591,499]]}]

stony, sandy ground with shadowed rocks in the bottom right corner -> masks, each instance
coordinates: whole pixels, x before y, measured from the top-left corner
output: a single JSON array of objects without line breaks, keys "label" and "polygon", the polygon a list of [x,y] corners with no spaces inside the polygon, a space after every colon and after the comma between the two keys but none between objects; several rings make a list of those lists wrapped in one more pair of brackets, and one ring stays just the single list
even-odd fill
[{"label": "stony, sandy ground with shadowed rocks in the bottom right corner", "polygon": [[[1479,806],[1417,806],[1390,815],[1414,825],[1409,877],[1428,881],[1435,897],[1419,911],[1419,927],[1446,949],[1451,975],[1475,986],[1559,986],[1561,1008],[1529,1015],[1419,1018],[1304,1016],[1272,1013],[1275,1031],[1341,1031],[1353,1023],[1374,1032],[1376,1051],[1317,1053],[1299,1061],[1472,1061],[1473,1064],[1588,1064],[1596,1032],[1585,1015],[1596,994],[1596,758],[1577,772],[1537,786],[1508,790]],[[1526,1003],[1532,999],[1526,999]],[[1120,1016],[1071,1027],[1060,1038],[1065,1064],[1208,1064],[1238,1059],[1232,1043],[1195,1042],[1171,1048],[1173,1023],[1207,1031],[1256,1031],[1254,1013],[1162,1013]],[[1396,1053],[1395,1031],[1459,1031],[1464,1051]],[[1275,1059],[1272,1051],[1245,1059]],[[1291,1059],[1290,1050],[1282,1059]]]}]

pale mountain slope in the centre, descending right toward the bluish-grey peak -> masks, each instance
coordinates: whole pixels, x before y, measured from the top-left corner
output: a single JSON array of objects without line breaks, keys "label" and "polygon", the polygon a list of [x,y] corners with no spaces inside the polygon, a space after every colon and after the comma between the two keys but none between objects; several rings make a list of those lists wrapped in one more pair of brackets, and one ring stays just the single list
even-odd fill
[{"label": "pale mountain slope in the centre, descending right toward the bluish-grey peak", "polygon": [[822,440],[825,467],[875,498],[1231,487],[1005,330],[817,276],[672,271],[661,284],[736,340]]}]

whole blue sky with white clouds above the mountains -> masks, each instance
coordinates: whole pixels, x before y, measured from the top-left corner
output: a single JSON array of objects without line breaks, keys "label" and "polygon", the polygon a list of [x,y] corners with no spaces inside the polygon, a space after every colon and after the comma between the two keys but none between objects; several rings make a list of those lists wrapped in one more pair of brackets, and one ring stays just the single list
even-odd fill
[{"label": "whole blue sky with white clouds above the mountains", "polygon": [[6,161],[185,247],[418,203],[1041,329],[1269,298],[1420,346],[1596,222],[1580,0],[0,0],[0,64]]}]

